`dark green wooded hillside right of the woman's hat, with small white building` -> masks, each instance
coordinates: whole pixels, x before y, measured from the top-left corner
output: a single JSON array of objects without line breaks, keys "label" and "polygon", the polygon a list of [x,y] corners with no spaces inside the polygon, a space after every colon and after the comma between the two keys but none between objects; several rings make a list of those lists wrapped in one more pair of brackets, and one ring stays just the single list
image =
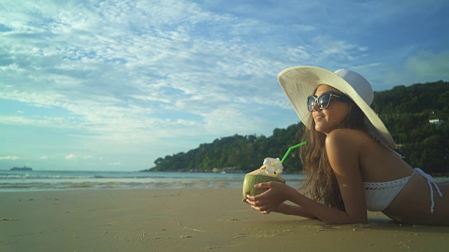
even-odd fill
[{"label": "dark green wooded hillside right of the woman's hat, with small white building", "polygon": [[372,107],[388,127],[406,162],[432,174],[449,173],[448,82],[440,80],[376,92]]}]

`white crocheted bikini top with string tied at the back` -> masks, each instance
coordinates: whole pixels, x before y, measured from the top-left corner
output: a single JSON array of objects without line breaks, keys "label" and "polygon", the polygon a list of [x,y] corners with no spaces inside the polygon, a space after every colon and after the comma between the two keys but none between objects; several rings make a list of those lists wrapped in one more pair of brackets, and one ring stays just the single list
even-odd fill
[{"label": "white crocheted bikini top with string tied at the back", "polygon": [[433,214],[435,202],[434,189],[431,185],[433,184],[435,186],[440,197],[443,197],[443,194],[441,193],[440,188],[438,188],[438,184],[436,183],[436,181],[429,174],[423,172],[420,168],[415,168],[412,175],[407,176],[403,179],[397,179],[395,181],[380,183],[363,182],[363,187],[365,188],[366,208],[368,209],[368,211],[383,211],[384,209],[386,209],[394,200],[396,195],[398,195],[398,193],[401,192],[404,186],[406,186],[408,181],[410,181],[410,178],[415,175],[416,172],[421,174],[424,179],[427,179],[427,183],[429,184],[430,188],[430,212]]}]

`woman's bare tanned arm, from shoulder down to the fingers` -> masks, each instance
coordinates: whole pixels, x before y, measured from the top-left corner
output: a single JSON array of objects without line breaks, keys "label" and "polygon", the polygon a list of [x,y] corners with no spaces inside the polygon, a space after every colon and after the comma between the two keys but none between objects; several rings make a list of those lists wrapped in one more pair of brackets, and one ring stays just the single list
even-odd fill
[{"label": "woman's bare tanned arm, from shoulder down to the fingers", "polygon": [[354,130],[334,130],[326,138],[326,151],[330,166],[337,177],[345,211],[327,207],[296,190],[290,190],[290,187],[282,183],[272,182],[256,185],[269,190],[261,195],[248,197],[248,203],[262,213],[269,213],[273,207],[289,200],[326,223],[366,223],[366,199],[358,162],[361,146],[357,135]]}]

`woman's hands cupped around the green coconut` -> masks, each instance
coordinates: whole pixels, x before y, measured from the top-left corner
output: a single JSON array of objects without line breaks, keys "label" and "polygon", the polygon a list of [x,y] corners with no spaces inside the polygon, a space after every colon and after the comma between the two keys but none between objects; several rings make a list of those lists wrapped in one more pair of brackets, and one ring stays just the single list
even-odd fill
[{"label": "woman's hands cupped around the green coconut", "polygon": [[257,189],[268,188],[268,190],[260,195],[247,195],[246,201],[251,207],[262,214],[269,214],[272,211],[281,212],[283,202],[288,200],[288,194],[291,190],[295,190],[285,183],[268,182],[259,183],[254,186]]}]

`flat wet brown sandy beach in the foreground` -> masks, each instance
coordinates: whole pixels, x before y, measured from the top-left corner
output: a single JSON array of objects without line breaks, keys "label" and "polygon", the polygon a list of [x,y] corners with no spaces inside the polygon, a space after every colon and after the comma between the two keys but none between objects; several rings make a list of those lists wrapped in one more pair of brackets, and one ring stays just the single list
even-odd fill
[{"label": "flat wet brown sandy beach in the foreground", "polygon": [[449,227],[262,215],[241,190],[0,193],[0,251],[447,251]]}]

